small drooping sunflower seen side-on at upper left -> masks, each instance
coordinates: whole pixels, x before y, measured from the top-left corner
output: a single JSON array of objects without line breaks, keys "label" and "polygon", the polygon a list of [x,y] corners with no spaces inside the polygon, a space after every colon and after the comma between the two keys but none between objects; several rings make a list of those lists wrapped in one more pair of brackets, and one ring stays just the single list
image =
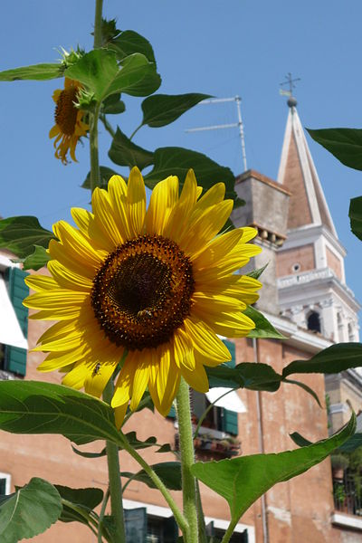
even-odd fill
[{"label": "small drooping sunflower seen side-on at upper left", "polygon": [[49,132],[49,138],[55,138],[55,157],[60,158],[63,164],[67,164],[67,154],[71,151],[71,158],[77,162],[75,148],[81,136],[86,136],[89,126],[83,122],[84,111],[75,107],[77,94],[81,90],[81,84],[69,78],[64,80],[64,89],[54,90],[52,100],[56,103],[55,125]]}]

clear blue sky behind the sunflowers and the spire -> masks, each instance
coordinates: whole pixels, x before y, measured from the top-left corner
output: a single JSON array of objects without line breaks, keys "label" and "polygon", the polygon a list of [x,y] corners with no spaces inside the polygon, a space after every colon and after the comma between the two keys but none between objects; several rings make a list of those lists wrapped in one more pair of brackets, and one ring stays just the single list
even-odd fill
[{"label": "clear blue sky behind the sunflowers and the spire", "polygon": [[[0,70],[54,62],[59,48],[79,43],[90,50],[91,0],[16,0],[3,3]],[[288,108],[280,82],[291,71],[301,122],[310,128],[361,125],[362,87],[360,0],[105,0],[104,14],[117,17],[152,43],[163,83],[160,92],[239,94],[248,167],[276,178]],[[71,206],[87,206],[81,189],[89,170],[87,144],[77,148],[78,164],[63,167],[48,139],[53,124],[52,90],[62,80],[0,84],[0,214],[34,214],[50,227],[69,219]],[[142,99],[126,97],[128,111],[110,120],[126,132],[138,126]],[[186,134],[185,129],[236,121],[234,104],[198,106],[165,129],[144,128],[136,143],[151,150],[167,145],[202,151],[236,174],[242,171],[236,129]],[[101,137],[101,164],[110,140]],[[349,199],[362,195],[362,174],[343,167],[309,139],[341,243],[348,250],[348,286],[362,301],[362,244],[349,230]],[[113,167],[115,167],[113,165]],[[115,167],[117,169],[117,167]],[[121,170],[119,170],[121,173]]]}]

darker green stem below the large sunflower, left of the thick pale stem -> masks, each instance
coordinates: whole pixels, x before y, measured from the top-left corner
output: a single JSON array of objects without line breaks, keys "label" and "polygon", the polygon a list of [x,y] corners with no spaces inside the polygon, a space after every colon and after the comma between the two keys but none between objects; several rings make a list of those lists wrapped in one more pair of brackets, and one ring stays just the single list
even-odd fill
[{"label": "darker green stem below the large sunflower, left of the thick pale stem", "polygon": [[[110,379],[103,392],[103,399],[110,404],[113,396],[113,381]],[[119,470],[119,447],[116,443],[106,442],[108,472],[110,477],[110,510],[115,523],[117,543],[126,543],[126,529],[122,505],[122,485]]]}]

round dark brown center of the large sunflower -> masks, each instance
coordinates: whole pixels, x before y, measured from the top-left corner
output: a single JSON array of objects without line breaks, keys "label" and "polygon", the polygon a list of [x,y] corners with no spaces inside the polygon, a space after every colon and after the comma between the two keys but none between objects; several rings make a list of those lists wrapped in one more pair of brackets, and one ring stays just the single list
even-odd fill
[{"label": "round dark brown center of the large sunflower", "polygon": [[91,305],[110,341],[142,350],[172,337],[194,290],[191,262],[176,243],[143,235],[110,253],[94,278]]}]

